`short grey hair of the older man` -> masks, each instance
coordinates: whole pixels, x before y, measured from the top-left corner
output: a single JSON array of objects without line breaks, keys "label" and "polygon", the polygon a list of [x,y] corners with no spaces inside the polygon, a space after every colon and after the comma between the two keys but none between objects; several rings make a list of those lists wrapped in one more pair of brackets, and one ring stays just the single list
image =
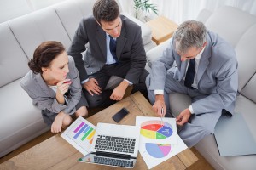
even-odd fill
[{"label": "short grey hair of the older man", "polygon": [[196,20],[187,20],[177,27],[173,38],[179,54],[184,54],[189,48],[201,48],[207,41],[207,27]]}]

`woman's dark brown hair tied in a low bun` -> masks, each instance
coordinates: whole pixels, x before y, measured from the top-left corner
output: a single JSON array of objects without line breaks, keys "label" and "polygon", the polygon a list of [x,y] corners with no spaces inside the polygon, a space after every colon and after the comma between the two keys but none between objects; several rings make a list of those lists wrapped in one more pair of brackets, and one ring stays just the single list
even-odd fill
[{"label": "woman's dark brown hair tied in a low bun", "polygon": [[65,48],[61,42],[43,42],[36,48],[33,59],[28,62],[28,66],[33,73],[42,74],[42,67],[49,67],[50,62],[63,51],[65,51]]}]

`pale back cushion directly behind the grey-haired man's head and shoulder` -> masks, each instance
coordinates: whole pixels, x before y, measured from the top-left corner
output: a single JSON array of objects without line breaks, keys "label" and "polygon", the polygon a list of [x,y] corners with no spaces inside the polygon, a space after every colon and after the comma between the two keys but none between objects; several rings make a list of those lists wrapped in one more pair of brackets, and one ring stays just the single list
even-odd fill
[{"label": "pale back cushion directly behind the grey-haired man's head and shoulder", "polygon": [[252,14],[241,13],[241,10],[237,8],[225,6],[211,14],[205,24],[207,29],[217,32],[220,37],[223,37],[233,47],[236,47],[236,43],[242,34],[254,23],[256,23],[256,20]]}]

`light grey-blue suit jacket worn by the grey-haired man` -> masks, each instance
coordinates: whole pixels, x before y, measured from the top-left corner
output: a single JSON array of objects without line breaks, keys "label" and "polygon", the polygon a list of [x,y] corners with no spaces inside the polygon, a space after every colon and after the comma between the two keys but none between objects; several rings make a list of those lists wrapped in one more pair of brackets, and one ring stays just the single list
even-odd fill
[{"label": "light grey-blue suit jacket worn by the grey-haired man", "polygon": [[[172,67],[173,62],[177,66]],[[152,64],[149,89],[164,89],[167,70],[172,71],[174,79],[182,81],[185,77],[188,60],[181,62],[172,39],[169,48],[159,60]],[[198,71],[198,90],[206,98],[192,103],[195,114],[225,109],[233,114],[238,88],[237,60],[234,48],[212,31],[207,31],[207,47],[201,55]]]}]

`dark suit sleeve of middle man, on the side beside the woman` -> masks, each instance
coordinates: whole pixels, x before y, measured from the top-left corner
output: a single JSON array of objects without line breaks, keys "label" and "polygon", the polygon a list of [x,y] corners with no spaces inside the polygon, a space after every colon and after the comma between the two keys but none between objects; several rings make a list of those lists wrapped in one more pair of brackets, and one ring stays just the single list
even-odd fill
[{"label": "dark suit sleeve of middle man, on the side beside the woman", "polygon": [[82,52],[86,50],[85,44],[88,42],[88,36],[85,29],[85,20],[82,20],[79,24],[77,31],[74,34],[72,44],[68,49],[67,54],[71,55],[74,59],[75,65],[79,70],[79,77],[81,81],[88,78],[88,75],[84,68],[84,60]]}]

